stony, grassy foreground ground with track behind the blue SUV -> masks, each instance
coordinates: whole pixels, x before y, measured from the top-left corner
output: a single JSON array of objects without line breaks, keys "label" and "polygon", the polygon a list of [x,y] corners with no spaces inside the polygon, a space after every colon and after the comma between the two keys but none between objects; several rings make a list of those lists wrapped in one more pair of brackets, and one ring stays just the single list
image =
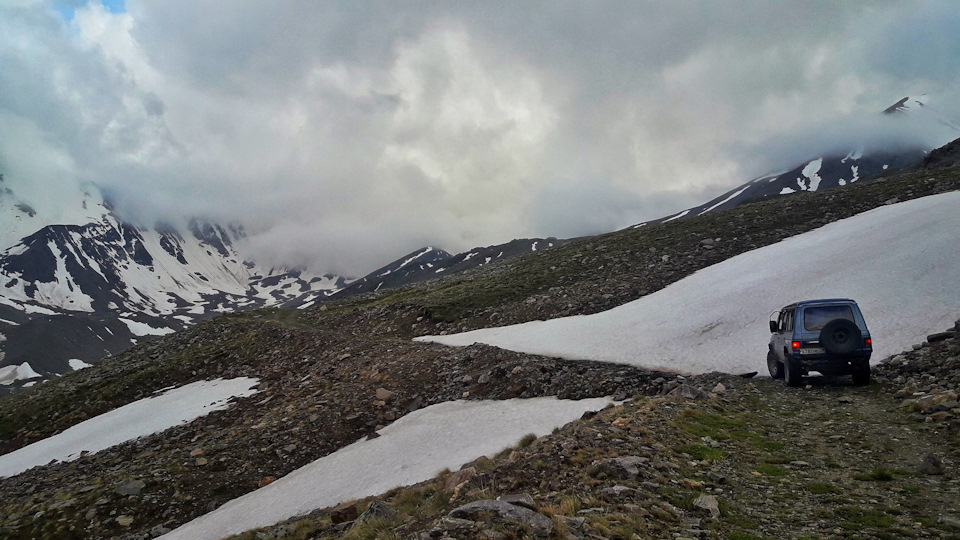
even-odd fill
[{"label": "stony, grassy foreground ground with track behind the blue SUV", "polygon": [[952,332],[867,387],[671,378],[457,472],[241,537],[960,538]]}]

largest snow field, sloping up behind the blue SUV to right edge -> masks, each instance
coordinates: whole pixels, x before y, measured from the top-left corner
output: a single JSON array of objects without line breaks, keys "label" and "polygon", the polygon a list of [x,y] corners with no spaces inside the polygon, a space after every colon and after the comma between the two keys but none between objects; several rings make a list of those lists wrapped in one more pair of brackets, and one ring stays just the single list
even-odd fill
[{"label": "largest snow field, sloping up behind the blue SUV to right edge", "polygon": [[861,306],[873,361],[960,316],[960,192],[884,206],[715,264],[603,313],[422,341],[703,373],[766,371],[768,316],[791,302]]}]

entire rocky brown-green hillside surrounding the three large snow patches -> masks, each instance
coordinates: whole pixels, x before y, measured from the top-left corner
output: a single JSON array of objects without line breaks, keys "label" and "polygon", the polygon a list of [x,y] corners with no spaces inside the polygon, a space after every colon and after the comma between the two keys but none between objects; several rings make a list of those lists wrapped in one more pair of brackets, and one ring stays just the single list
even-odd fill
[{"label": "entire rocky brown-green hillside surrounding the three large snow patches", "polygon": [[[954,413],[923,404],[918,412],[908,412],[912,405],[900,410],[893,397],[931,394],[938,381],[930,377],[955,392],[956,369],[946,364],[933,368],[942,372],[891,372],[888,383],[865,389],[817,383],[797,392],[768,379],[708,374],[685,382],[716,390],[716,397],[676,400],[660,396],[684,382],[673,374],[481,345],[452,349],[410,338],[597,313],[838,219],[958,189],[956,167],[913,171],[571,241],[307,310],[222,316],[155,338],[96,368],[0,399],[0,452],[171,386],[245,376],[260,380],[259,393],[162,434],[0,479],[0,531],[10,538],[149,537],[432,404],[612,395],[639,398],[526,441],[515,453],[480,460],[478,474],[455,501],[449,500],[453,488],[446,492],[429,481],[392,493],[386,500],[400,517],[375,525],[409,537],[440,526],[437,520],[461,502],[523,492],[538,512],[556,516],[551,534],[558,538],[567,537],[564,528],[574,537],[608,538],[955,534],[950,520],[956,516],[939,513],[958,501],[952,473],[956,431],[947,427],[950,417],[933,416]],[[936,358],[955,359],[956,347],[948,339],[911,354],[932,351]],[[908,355],[896,369],[918,364]],[[762,367],[758,359],[756,370]],[[717,382],[726,389],[720,391]],[[938,407],[950,402],[944,395]],[[839,419],[838,407],[845,407]],[[858,420],[863,423],[847,424]],[[835,427],[825,429],[828,421]],[[926,453],[938,454],[948,474],[918,474],[915,462]],[[626,456],[645,458],[634,462],[636,473],[618,472],[612,462],[593,464]],[[717,498],[719,521],[695,509],[701,493]],[[797,498],[803,504],[786,504]],[[475,525],[443,523],[454,527],[451,536],[476,534],[453,532]],[[514,534],[509,524],[491,527]],[[287,534],[282,531],[304,538],[373,537],[364,536],[363,527],[347,532],[335,526],[329,512],[270,534]]]}]

